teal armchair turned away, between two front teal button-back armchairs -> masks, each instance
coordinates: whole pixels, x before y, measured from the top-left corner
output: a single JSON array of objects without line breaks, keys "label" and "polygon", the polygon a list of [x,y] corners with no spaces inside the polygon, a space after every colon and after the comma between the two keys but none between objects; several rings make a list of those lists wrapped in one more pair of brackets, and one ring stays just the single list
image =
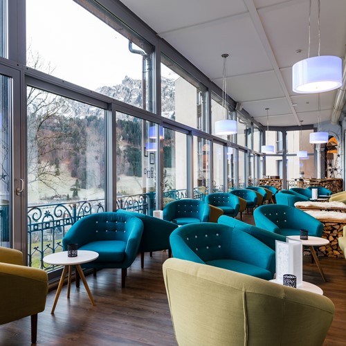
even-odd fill
[{"label": "teal armchair turned away, between two front teal button-back armchairs", "polygon": [[128,212],[118,210],[118,214],[138,217],[143,222],[143,235],[140,239],[138,251],[140,252],[140,266],[144,268],[144,253],[168,250],[168,257],[171,255],[170,235],[178,227],[172,222],[140,214],[139,212]]}]

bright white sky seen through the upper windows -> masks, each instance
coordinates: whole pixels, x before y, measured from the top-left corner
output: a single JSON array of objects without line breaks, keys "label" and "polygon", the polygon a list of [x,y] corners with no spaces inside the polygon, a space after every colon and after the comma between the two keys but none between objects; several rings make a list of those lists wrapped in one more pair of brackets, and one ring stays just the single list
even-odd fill
[{"label": "bright white sky seen through the upper windows", "polygon": [[[55,77],[91,90],[142,78],[142,57],[128,40],[73,0],[27,0],[26,12],[27,48]],[[162,74],[172,78],[169,69]]]}]

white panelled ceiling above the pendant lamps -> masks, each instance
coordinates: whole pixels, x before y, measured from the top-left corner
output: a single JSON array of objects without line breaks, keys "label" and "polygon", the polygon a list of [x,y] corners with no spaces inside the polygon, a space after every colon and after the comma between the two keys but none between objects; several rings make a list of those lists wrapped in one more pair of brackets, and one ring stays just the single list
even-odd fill
[{"label": "white panelled ceiling above the pendant lamps", "polygon": [[[262,125],[318,122],[317,94],[292,91],[291,66],[308,56],[309,0],[121,0],[222,87]],[[320,55],[345,57],[346,0],[321,0]],[[318,6],[312,0],[310,56],[318,55]],[[296,51],[301,50],[301,53]],[[331,119],[337,91],[320,94],[320,120]]]}]

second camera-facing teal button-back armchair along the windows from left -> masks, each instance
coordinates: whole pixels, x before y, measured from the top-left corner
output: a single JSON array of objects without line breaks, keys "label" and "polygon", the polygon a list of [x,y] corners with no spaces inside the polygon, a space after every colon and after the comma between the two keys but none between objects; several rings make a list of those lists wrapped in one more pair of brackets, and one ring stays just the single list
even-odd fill
[{"label": "second camera-facing teal button-back armchair along the windows from left", "polygon": [[172,201],[163,208],[163,219],[172,221],[179,226],[209,220],[208,203],[198,199],[179,199]]}]

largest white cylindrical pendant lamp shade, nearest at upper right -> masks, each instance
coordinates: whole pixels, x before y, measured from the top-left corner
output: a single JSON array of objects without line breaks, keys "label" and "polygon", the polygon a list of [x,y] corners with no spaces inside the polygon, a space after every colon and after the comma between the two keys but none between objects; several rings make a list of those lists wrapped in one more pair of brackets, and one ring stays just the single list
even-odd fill
[{"label": "largest white cylindrical pendant lamp shade, nearest at upper right", "polygon": [[343,62],[333,55],[309,57],[292,67],[292,89],[295,93],[322,93],[338,89],[342,79]]}]

